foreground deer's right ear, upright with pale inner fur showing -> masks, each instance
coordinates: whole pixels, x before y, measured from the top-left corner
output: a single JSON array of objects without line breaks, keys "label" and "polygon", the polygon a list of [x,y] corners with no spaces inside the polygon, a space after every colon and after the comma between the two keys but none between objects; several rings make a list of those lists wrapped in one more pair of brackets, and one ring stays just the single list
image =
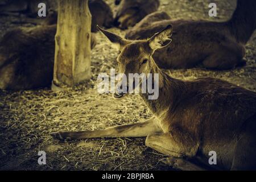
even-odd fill
[{"label": "foreground deer's right ear, upright with pale inner fur showing", "polygon": [[168,46],[172,42],[171,36],[172,26],[169,24],[164,30],[156,33],[148,40],[150,48],[155,51],[156,49]]}]

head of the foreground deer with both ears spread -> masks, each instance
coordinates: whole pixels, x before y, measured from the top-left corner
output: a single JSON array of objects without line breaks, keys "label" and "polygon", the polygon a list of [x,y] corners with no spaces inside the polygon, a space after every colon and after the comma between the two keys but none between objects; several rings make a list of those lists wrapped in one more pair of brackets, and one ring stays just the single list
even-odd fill
[{"label": "head of the foreground deer with both ears spread", "polygon": [[[155,61],[152,59],[152,55],[156,49],[164,48],[171,43],[172,26],[168,25],[164,30],[157,32],[150,39],[146,40],[126,40],[112,32],[106,31],[97,26],[98,29],[112,42],[118,46],[120,51],[117,57],[117,63],[119,67],[119,73],[123,73],[126,78],[129,78],[129,73],[141,75],[148,75],[148,73],[155,73],[158,68]],[[126,92],[114,93],[114,98],[121,98],[129,91],[133,91],[137,86],[134,85],[134,80],[127,80],[127,82],[133,84],[133,88],[129,88],[128,85],[124,85],[122,78],[119,83],[122,83],[122,90]]]}]

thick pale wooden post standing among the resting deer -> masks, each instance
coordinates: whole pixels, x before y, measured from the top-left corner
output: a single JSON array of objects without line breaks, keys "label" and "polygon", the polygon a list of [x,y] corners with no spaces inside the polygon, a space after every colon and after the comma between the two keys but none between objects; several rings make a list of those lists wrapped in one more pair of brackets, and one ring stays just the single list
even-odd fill
[{"label": "thick pale wooden post standing among the resting deer", "polygon": [[88,0],[59,0],[53,84],[75,86],[90,78]]}]

